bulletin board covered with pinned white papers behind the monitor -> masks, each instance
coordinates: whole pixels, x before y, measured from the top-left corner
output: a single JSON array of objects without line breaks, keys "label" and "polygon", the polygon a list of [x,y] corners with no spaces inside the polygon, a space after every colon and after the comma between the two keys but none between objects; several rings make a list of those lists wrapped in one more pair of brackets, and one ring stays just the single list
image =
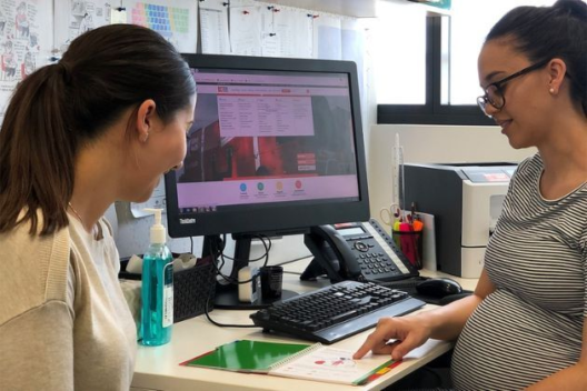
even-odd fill
[{"label": "bulletin board covered with pinned white papers behind the monitor", "polygon": [[[357,21],[256,0],[0,0],[0,123],[21,80],[59,61],[81,33],[105,24],[150,28],[183,53],[352,60],[362,80],[365,30]],[[165,204],[165,191],[151,201]],[[117,202],[121,257],[148,244],[151,219],[142,217],[141,207]],[[169,244],[181,252],[192,241]],[[200,248],[200,240],[193,245]]]}]

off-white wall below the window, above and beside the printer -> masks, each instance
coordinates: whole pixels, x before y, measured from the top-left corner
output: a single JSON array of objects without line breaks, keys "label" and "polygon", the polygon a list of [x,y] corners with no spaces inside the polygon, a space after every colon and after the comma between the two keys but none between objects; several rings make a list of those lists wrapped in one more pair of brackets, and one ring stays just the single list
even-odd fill
[{"label": "off-white wall below the window, above and beside the printer", "polygon": [[396,133],[406,163],[519,162],[536,149],[513,149],[499,127],[377,124],[370,129],[368,179],[371,217],[392,200],[391,149]]}]

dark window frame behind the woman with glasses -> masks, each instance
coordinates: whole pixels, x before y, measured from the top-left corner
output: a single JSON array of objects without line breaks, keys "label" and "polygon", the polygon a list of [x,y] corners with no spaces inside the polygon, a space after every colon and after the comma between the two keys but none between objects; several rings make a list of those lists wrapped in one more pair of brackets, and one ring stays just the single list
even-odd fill
[{"label": "dark window frame behind the woman with glasses", "polygon": [[[426,17],[426,103],[377,104],[377,123],[495,126],[477,104],[442,104],[442,20]],[[449,26],[450,23],[448,23]],[[450,27],[448,27],[450,29]],[[445,33],[450,33],[445,31]],[[450,47],[448,47],[450,57]],[[450,61],[449,61],[450,63]],[[447,88],[450,88],[447,86]]]}]

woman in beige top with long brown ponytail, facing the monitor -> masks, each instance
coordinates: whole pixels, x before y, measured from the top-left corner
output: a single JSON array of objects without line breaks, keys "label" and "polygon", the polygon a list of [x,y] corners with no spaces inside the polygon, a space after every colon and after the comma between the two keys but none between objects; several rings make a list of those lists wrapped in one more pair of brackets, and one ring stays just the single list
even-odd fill
[{"label": "woman in beige top with long brown ponytail, facing the monitor", "polygon": [[196,84],[152,30],[73,40],[17,88],[0,130],[0,389],[128,390],[136,327],[102,218],[181,166]]}]

